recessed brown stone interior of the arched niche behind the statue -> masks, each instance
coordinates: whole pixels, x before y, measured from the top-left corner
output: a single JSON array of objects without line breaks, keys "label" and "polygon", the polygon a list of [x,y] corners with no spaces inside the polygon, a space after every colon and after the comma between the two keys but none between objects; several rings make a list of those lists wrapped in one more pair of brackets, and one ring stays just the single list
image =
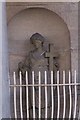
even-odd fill
[{"label": "recessed brown stone interior of the arched niche behind the statue", "polygon": [[32,49],[29,39],[36,32],[58,49],[60,69],[69,70],[70,34],[67,25],[48,9],[29,8],[16,14],[8,24],[10,71],[16,70],[18,62]]}]

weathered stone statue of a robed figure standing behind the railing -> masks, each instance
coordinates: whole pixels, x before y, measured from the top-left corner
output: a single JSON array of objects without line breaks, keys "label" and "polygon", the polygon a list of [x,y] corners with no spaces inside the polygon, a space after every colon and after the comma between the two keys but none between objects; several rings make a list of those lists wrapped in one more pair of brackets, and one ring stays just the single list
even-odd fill
[{"label": "weathered stone statue of a robed figure standing behind the railing", "polygon": [[[44,48],[43,44],[45,42],[45,38],[39,34],[35,33],[31,36],[30,38],[31,44],[34,46],[34,50],[30,51],[28,56],[23,62],[20,62],[18,64],[18,71],[22,72],[23,79],[25,80],[25,72],[29,72],[29,84],[32,84],[32,79],[31,79],[31,72],[34,71],[35,76],[34,76],[34,81],[35,84],[39,83],[39,71],[41,72],[41,84],[45,83],[45,76],[44,76],[44,71],[47,71],[48,73],[48,79],[47,83],[51,83],[50,81],[50,72],[49,70],[49,60],[46,57],[49,57],[47,54],[47,50]],[[47,54],[47,55],[46,55]],[[53,65],[52,65],[53,66]],[[58,65],[54,64],[56,67],[56,70],[58,70]],[[47,95],[48,95],[48,117],[50,118],[51,114],[51,95],[50,95],[50,87],[47,87]],[[30,110],[30,117],[32,118],[32,88],[29,87],[29,110]],[[38,110],[39,110],[39,89],[38,87],[35,87],[35,109],[36,109],[36,118],[38,118]],[[45,88],[41,88],[41,118],[45,118]]]}]

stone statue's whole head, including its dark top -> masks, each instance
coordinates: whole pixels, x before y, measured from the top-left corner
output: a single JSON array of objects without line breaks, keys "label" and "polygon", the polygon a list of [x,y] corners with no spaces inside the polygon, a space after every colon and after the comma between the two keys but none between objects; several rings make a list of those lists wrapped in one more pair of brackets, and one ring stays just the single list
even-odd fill
[{"label": "stone statue's whole head, including its dark top", "polygon": [[43,45],[44,43],[44,37],[39,34],[39,33],[35,33],[31,36],[30,41],[31,43],[36,47],[39,48],[41,45]]}]

